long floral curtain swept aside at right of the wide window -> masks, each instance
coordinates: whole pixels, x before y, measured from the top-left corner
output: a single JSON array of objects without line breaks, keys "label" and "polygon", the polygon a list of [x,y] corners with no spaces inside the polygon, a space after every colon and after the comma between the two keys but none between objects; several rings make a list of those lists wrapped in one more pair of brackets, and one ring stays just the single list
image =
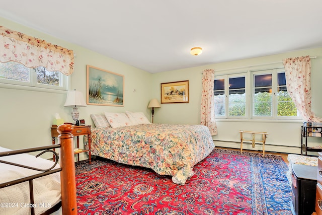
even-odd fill
[{"label": "long floral curtain swept aside at right of the wide window", "polygon": [[311,59],[309,56],[287,58],[283,60],[287,92],[303,119],[319,122],[311,111]]}]

